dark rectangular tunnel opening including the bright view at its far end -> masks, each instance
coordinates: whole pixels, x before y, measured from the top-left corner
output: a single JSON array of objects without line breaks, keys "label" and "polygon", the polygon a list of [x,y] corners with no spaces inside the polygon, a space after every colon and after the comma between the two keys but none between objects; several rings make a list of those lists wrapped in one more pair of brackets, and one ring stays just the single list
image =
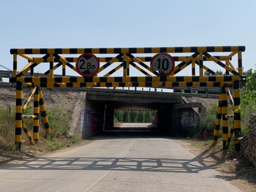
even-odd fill
[{"label": "dark rectangular tunnel opening including the bright view at its far end", "polygon": [[177,95],[170,94],[86,92],[86,109],[94,113],[90,116],[93,134],[175,136],[175,104]]}]

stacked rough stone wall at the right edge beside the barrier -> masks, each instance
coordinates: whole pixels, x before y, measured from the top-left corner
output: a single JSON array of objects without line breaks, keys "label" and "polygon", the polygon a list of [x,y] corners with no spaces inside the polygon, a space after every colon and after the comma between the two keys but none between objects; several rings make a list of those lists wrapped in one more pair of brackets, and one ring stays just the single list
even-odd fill
[{"label": "stacked rough stone wall at the right edge beside the barrier", "polygon": [[256,114],[250,115],[249,132],[244,137],[238,138],[244,156],[256,166]]}]

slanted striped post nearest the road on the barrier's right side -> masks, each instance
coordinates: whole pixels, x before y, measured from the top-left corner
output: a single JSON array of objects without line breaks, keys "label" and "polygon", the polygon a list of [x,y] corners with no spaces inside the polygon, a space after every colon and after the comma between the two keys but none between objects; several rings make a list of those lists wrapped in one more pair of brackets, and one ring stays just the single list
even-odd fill
[{"label": "slanted striped post nearest the road on the barrier's right side", "polygon": [[215,120],[214,136],[213,136],[213,145],[216,145],[218,142],[218,136],[220,131],[220,122],[222,115],[222,89],[220,91],[219,103],[217,108],[217,115]]}]

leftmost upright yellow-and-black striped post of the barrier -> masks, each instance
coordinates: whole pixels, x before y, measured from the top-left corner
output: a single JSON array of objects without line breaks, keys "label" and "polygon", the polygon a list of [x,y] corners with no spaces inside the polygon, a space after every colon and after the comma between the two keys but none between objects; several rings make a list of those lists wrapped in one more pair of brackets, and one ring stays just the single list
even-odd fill
[{"label": "leftmost upright yellow-and-black striped post of the barrier", "polygon": [[16,114],[15,114],[15,149],[21,150],[21,129],[22,129],[22,83],[17,81],[16,84]]}]

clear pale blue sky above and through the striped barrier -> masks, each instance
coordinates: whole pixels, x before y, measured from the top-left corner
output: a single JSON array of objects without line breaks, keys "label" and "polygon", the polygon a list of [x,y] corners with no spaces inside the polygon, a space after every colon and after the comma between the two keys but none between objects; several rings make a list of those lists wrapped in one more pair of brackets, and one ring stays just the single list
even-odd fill
[{"label": "clear pale blue sky above and through the striped barrier", "polygon": [[[246,46],[244,70],[255,69],[255,9],[255,0],[1,0],[0,65],[12,69],[10,48]],[[236,59],[232,61],[237,66]],[[25,64],[19,57],[18,70]],[[221,69],[215,63],[209,66]],[[48,67],[40,64],[35,72]],[[187,68],[179,76],[191,75]],[[69,70],[67,75],[76,74]],[[122,71],[113,75],[122,76]],[[131,69],[130,76],[143,74]]]}]

